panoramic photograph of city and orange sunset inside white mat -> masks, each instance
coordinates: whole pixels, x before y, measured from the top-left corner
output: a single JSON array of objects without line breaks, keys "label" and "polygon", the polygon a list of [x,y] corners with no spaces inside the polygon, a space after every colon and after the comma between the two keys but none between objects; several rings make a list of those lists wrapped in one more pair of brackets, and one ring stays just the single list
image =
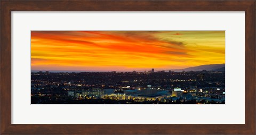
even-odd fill
[{"label": "panoramic photograph of city and orange sunset inside white mat", "polygon": [[225,104],[225,31],[31,31],[31,104]]}]

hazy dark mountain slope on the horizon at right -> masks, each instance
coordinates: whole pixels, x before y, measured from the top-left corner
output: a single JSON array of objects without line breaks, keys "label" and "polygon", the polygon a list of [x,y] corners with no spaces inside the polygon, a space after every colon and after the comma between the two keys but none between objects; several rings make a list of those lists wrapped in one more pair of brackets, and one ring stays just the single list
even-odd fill
[{"label": "hazy dark mountain slope on the horizon at right", "polygon": [[172,70],[172,71],[225,71],[225,64],[210,64],[188,67],[186,69]]}]

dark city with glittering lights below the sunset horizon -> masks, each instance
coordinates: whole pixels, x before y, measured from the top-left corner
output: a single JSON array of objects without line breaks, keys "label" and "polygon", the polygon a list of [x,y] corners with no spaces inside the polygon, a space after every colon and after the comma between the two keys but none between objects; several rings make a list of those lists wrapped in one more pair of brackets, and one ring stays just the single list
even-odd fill
[{"label": "dark city with glittering lights below the sunset horizon", "polygon": [[32,72],[31,104],[225,104],[225,70]]}]

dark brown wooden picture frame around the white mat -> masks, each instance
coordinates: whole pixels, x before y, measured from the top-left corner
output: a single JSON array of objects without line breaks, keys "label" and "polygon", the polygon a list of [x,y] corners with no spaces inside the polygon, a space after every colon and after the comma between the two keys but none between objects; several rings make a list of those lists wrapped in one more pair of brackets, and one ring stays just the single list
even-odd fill
[{"label": "dark brown wooden picture frame around the white mat", "polygon": [[[1,1],[1,134],[255,134],[255,0]],[[11,124],[11,11],[245,11],[245,124]]]}]

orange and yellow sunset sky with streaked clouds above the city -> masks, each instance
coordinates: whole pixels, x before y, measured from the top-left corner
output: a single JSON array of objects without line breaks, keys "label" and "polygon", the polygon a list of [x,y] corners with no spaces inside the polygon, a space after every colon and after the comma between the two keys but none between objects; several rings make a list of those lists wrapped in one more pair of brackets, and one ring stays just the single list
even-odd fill
[{"label": "orange and yellow sunset sky with streaked clouds above the city", "polygon": [[31,31],[32,71],[143,71],[225,63],[225,31]]}]

